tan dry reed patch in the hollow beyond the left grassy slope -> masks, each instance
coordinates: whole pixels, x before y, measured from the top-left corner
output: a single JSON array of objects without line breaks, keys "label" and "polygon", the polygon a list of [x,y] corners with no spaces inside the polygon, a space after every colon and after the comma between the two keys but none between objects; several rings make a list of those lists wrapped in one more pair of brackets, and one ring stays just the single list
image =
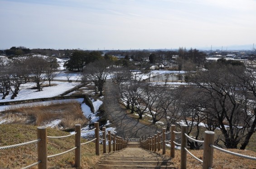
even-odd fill
[{"label": "tan dry reed patch in the hollow beyond the left grassy slope", "polygon": [[82,113],[80,104],[72,101],[52,105],[19,107],[1,112],[1,119],[9,124],[44,125],[55,119],[61,119],[59,127],[73,128],[76,123],[84,125],[87,119]]}]

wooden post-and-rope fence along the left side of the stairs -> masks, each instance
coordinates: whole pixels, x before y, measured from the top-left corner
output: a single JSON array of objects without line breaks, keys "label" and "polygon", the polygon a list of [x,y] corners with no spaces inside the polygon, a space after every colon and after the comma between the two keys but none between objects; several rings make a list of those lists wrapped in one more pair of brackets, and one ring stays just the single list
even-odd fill
[{"label": "wooden post-and-rope fence along the left side of the stairs", "polygon": [[[10,148],[15,148],[18,146],[25,146],[29,145],[32,143],[37,143],[37,154],[38,154],[38,161],[35,162],[34,164],[30,164],[29,166],[26,166],[22,169],[29,169],[35,165],[38,165],[38,169],[47,169],[47,163],[48,163],[48,158],[52,158],[58,155],[63,155],[65,153],[68,153],[69,151],[75,151],[75,167],[77,169],[81,168],[81,146],[84,144],[87,144],[89,142],[95,142],[95,154],[100,155],[100,140],[102,140],[103,143],[103,153],[106,153],[106,135],[108,135],[108,151],[111,152],[111,145],[113,146],[113,151],[119,151],[127,146],[127,141],[125,141],[123,138],[116,136],[116,134],[111,134],[111,131],[108,131],[106,133],[106,128],[103,127],[102,131],[99,129],[99,123],[96,122],[94,123],[94,129],[89,130],[89,131],[81,131],[81,125],[76,124],[75,125],[75,132],[73,134],[67,135],[67,136],[60,136],[60,137],[52,137],[52,136],[47,136],[47,128],[44,126],[39,126],[37,128],[37,140],[30,141],[30,142],[25,142],[21,144],[15,144],[15,145],[10,145],[10,146],[3,146],[0,147],[0,150],[4,149],[10,149]],[[94,131],[95,133],[95,138],[92,139],[91,141],[81,143],[81,132],[91,132]],[[102,138],[100,138],[100,132],[102,132]],[[70,136],[75,136],[75,147],[59,153],[55,155],[48,155],[47,153],[47,141],[48,139],[54,139],[54,138],[65,138],[65,137],[70,137]],[[112,136],[113,135],[113,136]],[[112,140],[113,139],[113,140]]]}]

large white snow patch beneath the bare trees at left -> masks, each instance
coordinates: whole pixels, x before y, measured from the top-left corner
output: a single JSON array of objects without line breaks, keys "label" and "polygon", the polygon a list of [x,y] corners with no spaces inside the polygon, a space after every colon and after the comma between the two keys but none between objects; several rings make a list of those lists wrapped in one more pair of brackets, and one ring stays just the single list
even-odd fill
[{"label": "large white snow patch beneath the bare trees at left", "polygon": [[[47,82],[45,82],[47,84]],[[19,94],[14,99],[11,99],[11,92],[5,99],[0,99],[0,102],[17,101],[17,100],[29,100],[38,98],[48,98],[53,96],[59,96],[63,92],[75,87],[75,82],[51,82],[51,87],[43,87],[43,91],[37,91],[37,89],[31,89],[35,87],[34,82],[28,82],[22,84]]]}]

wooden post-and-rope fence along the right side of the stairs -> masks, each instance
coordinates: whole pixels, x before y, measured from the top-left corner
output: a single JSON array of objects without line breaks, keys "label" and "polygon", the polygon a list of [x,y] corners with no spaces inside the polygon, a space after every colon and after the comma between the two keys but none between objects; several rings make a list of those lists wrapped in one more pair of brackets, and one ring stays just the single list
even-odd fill
[{"label": "wooden post-and-rope fence along the right side of the stairs", "polygon": [[[166,140],[166,134],[171,134],[170,140]],[[181,143],[178,144],[175,142],[175,134],[181,135]],[[247,158],[250,160],[256,160],[256,157],[251,157],[248,155],[242,155],[238,153],[234,153],[232,151],[227,151],[222,148],[219,148],[217,146],[214,146],[214,132],[212,131],[205,131],[204,132],[204,141],[199,141],[194,139],[193,137],[188,136],[188,126],[187,125],[181,125],[181,132],[175,131],[175,125],[171,125],[171,130],[169,132],[166,132],[166,129],[162,129],[162,133],[158,132],[152,137],[148,137],[145,139],[145,141],[140,140],[140,145],[143,149],[146,149],[148,151],[160,151],[162,146],[162,154],[164,155],[166,153],[165,147],[166,142],[170,143],[170,156],[171,158],[174,158],[175,156],[175,145],[180,146],[180,169],[186,169],[187,168],[187,153],[191,155],[194,159],[198,160],[199,162],[203,163],[203,169],[212,169],[213,168],[213,149],[217,149],[219,151],[223,151],[225,153],[236,155],[239,157]],[[203,143],[203,160],[198,159],[196,156],[194,156],[191,152],[187,149],[187,141],[188,139],[194,141],[194,142],[200,142]],[[162,140],[162,141],[161,141]]]}]

